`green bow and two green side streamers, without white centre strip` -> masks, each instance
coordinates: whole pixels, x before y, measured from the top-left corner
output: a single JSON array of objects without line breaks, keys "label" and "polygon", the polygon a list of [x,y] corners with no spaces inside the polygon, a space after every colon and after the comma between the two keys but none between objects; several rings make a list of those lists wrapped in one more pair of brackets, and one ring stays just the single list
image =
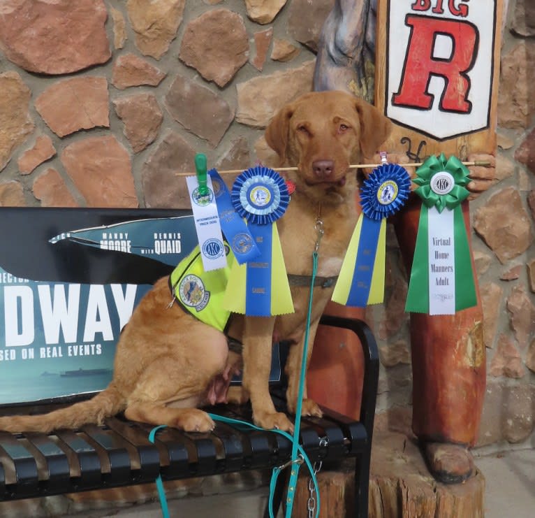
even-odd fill
[{"label": "green bow and two green side streamers, without white centre strip", "polygon": [[[441,171],[447,171],[453,176],[455,186],[448,194],[437,194],[431,189],[433,176]],[[436,207],[439,213],[446,208],[453,210],[453,239],[455,247],[455,311],[471,308],[477,304],[476,286],[470,246],[467,231],[464,226],[461,203],[469,196],[465,186],[469,183],[469,171],[457,159],[450,157],[446,160],[444,153],[439,157],[432,156],[427,159],[413,179],[418,187],[416,194],[422,199],[416,247],[414,250],[409,292],[406,297],[406,312],[427,313],[429,312],[429,250],[428,232],[429,224],[427,213],[432,207]]]}]

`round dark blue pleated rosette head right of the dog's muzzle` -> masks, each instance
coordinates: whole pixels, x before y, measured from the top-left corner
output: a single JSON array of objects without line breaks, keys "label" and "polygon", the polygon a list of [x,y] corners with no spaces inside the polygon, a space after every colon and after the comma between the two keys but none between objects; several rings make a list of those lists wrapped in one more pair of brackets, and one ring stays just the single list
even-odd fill
[{"label": "round dark blue pleated rosette head right of the dog's muzzle", "polygon": [[382,220],[397,213],[411,192],[411,179],[399,164],[383,164],[363,182],[360,189],[362,213],[371,220]]}]

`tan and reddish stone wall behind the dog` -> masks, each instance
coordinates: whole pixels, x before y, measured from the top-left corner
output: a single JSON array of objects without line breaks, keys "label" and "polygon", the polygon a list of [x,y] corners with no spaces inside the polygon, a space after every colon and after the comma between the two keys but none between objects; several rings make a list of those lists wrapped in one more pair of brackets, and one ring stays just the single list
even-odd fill
[{"label": "tan and reddish stone wall behind the dog", "polygon": [[[210,166],[268,157],[263,128],[312,87],[333,0],[4,0],[0,205],[189,207]],[[480,445],[518,443],[535,415],[535,6],[510,0],[501,51],[497,180],[471,203],[485,312]],[[379,412],[403,427],[411,368],[406,275],[388,238]],[[379,419],[381,422],[381,419]]]}]

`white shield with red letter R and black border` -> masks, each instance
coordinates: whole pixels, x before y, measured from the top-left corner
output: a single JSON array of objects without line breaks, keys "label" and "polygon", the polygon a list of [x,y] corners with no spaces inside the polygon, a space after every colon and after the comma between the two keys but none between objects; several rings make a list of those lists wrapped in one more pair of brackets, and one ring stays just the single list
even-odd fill
[{"label": "white shield with red letter R and black border", "polygon": [[438,141],[488,128],[496,14],[496,0],[390,0],[386,115]]}]

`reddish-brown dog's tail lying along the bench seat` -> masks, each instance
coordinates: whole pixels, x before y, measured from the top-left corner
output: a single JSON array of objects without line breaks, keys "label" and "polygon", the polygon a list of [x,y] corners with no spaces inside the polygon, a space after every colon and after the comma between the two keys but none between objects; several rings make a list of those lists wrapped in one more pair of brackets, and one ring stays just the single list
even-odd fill
[{"label": "reddish-brown dog's tail lying along the bench seat", "polygon": [[48,433],[60,428],[76,429],[84,424],[101,424],[126,408],[126,399],[111,383],[89,401],[81,401],[44,415],[0,417],[0,430]]}]

